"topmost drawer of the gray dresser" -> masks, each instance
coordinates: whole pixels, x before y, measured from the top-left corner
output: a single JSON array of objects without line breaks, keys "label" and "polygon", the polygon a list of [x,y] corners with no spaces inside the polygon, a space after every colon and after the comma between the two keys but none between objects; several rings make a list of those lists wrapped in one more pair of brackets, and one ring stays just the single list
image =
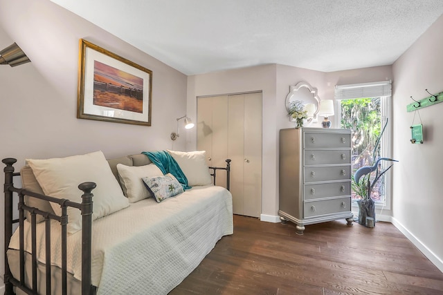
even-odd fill
[{"label": "topmost drawer of the gray dresser", "polygon": [[350,133],[305,133],[305,148],[349,148]]}]

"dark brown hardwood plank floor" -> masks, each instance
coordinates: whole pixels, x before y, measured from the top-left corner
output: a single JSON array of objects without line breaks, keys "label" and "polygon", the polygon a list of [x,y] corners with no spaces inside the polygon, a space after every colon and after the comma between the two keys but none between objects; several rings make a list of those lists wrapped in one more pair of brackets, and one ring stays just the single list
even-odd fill
[{"label": "dark brown hardwood plank floor", "polygon": [[443,294],[443,273],[388,222],[295,231],[234,216],[234,234],[170,294]]}]

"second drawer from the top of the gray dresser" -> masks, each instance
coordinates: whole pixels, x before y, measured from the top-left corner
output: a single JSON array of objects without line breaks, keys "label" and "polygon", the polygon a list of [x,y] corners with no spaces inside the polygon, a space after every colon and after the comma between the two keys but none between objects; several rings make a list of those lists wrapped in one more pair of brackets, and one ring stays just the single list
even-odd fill
[{"label": "second drawer from the top of the gray dresser", "polygon": [[349,164],[351,150],[305,150],[305,165]]}]

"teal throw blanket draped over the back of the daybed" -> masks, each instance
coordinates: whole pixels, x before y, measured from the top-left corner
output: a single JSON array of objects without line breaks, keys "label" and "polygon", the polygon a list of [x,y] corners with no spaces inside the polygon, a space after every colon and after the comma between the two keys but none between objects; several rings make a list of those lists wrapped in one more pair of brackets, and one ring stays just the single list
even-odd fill
[{"label": "teal throw blanket draped over the back of the daybed", "polygon": [[185,173],[181,171],[179,164],[175,162],[168,151],[144,151],[143,154],[147,155],[147,158],[150,158],[151,162],[156,164],[163,174],[171,173],[174,175],[183,189],[192,189],[192,187],[188,186],[188,178],[186,178]]}]

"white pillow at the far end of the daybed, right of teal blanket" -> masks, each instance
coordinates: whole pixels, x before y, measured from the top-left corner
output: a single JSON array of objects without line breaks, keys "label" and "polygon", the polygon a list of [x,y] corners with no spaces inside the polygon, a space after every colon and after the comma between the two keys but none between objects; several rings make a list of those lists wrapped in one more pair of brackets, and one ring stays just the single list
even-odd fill
[{"label": "white pillow at the far end of the daybed, right of teal blanket", "polygon": [[208,164],[206,164],[206,151],[170,151],[168,153],[179,164],[186,178],[188,185],[207,185],[212,182]]}]

